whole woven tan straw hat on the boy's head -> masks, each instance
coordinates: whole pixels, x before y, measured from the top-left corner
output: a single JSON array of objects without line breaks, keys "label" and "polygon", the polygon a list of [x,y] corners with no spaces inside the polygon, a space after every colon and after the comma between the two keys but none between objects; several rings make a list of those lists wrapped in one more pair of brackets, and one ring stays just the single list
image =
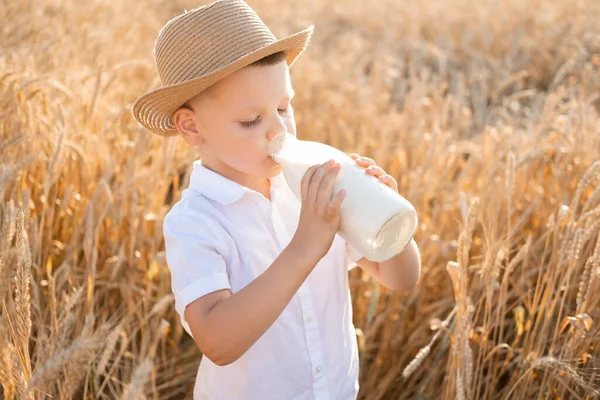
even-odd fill
[{"label": "whole woven tan straw hat on the boy's head", "polygon": [[161,29],[154,46],[162,86],[135,101],[133,116],[153,133],[174,136],[171,116],[186,101],[268,55],[284,51],[291,66],[312,32],[310,26],[277,40],[242,0],[219,0],[178,15]]}]

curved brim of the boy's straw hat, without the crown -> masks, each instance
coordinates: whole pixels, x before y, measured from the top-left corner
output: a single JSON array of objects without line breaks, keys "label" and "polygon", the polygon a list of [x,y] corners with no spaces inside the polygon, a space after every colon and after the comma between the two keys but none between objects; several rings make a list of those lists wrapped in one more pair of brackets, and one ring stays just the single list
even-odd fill
[{"label": "curved brim of the boy's straw hat, without the crown", "polygon": [[286,61],[291,67],[308,45],[313,30],[314,27],[311,25],[301,32],[248,53],[208,75],[152,90],[135,101],[132,108],[133,117],[157,135],[175,136],[178,133],[171,116],[186,101],[238,69],[280,51],[287,54]]}]

